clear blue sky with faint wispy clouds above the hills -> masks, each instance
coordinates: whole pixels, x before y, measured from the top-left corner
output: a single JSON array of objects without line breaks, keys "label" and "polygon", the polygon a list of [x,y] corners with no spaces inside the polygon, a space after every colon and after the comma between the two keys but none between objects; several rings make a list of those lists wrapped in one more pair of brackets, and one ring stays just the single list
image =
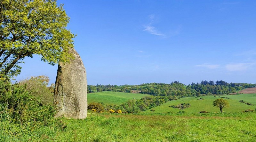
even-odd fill
[{"label": "clear blue sky with faint wispy clouds above the hills", "polygon": [[[256,1],[58,0],[96,84],[256,83]],[[57,66],[27,58],[16,80]]]}]

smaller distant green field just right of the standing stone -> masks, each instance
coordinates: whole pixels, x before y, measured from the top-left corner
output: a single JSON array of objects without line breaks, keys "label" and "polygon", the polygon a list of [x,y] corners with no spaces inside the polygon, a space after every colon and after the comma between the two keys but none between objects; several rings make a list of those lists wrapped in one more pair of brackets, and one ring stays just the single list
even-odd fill
[{"label": "smaller distant green field just right of the standing stone", "polygon": [[128,100],[141,99],[143,96],[148,96],[147,94],[134,94],[134,93],[123,93],[123,92],[96,92],[88,93],[87,101],[92,102],[104,102],[105,104],[116,104],[127,102]]}]

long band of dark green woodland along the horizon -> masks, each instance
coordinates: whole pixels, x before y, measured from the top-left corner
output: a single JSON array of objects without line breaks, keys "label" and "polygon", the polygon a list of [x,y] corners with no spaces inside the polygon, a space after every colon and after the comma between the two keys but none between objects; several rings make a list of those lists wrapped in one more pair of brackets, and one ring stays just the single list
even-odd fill
[{"label": "long band of dark green woodland along the horizon", "polygon": [[88,92],[118,91],[118,92],[136,92],[149,94],[153,96],[200,96],[200,95],[223,95],[234,93],[238,90],[256,87],[256,84],[250,83],[227,83],[225,81],[202,81],[201,83],[191,83],[188,86],[175,81],[166,83],[145,83],[141,85],[88,85]]}]

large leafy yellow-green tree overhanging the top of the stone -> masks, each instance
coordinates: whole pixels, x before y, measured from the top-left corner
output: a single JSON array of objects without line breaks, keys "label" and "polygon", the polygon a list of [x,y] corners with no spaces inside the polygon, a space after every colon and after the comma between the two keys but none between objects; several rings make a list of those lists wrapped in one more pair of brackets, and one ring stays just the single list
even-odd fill
[{"label": "large leafy yellow-green tree overhanging the top of the stone", "polygon": [[0,1],[0,75],[20,73],[25,57],[41,56],[50,65],[68,62],[75,37],[69,17],[56,0]]}]

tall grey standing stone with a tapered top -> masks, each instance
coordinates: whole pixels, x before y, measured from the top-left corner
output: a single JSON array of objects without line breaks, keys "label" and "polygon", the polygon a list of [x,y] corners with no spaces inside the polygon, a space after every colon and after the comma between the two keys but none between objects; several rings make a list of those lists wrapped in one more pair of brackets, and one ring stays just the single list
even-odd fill
[{"label": "tall grey standing stone with a tapered top", "polygon": [[84,119],[87,117],[87,80],[81,57],[74,48],[69,53],[74,59],[59,62],[54,89],[54,104],[58,107],[56,117]]}]

